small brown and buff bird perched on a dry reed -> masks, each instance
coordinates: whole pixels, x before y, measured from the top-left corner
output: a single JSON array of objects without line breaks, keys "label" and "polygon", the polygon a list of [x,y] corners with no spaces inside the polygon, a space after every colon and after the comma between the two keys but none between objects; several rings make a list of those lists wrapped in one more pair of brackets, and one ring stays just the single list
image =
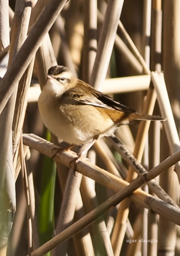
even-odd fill
[{"label": "small brown and buff bird perched on a dry reed", "polygon": [[64,66],[49,68],[47,81],[38,99],[41,119],[59,141],[83,146],[76,163],[99,137],[113,135],[115,130],[134,120],[164,121],[165,118],[141,115],[75,78]]}]

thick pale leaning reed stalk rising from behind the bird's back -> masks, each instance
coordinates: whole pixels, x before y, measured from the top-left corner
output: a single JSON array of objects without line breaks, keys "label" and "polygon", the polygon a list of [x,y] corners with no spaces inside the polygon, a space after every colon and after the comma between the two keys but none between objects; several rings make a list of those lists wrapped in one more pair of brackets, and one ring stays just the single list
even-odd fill
[{"label": "thick pale leaning reed stalk rising from behind the bird's back", "polygon": [[108,1],[90,79],[90,84],[93,85],[95,89],[101,89],[102,82],[107,74],[123,3],[124,0]]}]

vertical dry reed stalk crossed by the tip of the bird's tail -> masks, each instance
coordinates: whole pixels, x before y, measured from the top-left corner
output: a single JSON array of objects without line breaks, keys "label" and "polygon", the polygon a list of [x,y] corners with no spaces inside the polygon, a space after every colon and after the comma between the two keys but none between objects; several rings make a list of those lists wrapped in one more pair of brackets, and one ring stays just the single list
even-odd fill
[{"label": "vertical dry reed stalk crossed by the tip of the bird's tail", "polygon": [[[152,1],[152,40],[151,40],[151,70],[161,72],[161,44],[162,44],[162,10],[161,0]],[[150,129],[149,143],[149,168],[160,163],[160,139],[161,139],[161,124],[155,122]],[[157,177],[159,178],[159,177]],[[159,182],[159,179],[157,179]],[[156,213],[148,212],[147,239],[158,239],[158,216]],[[157,255],[157,243],[148,243],[147,251],[149,255]]]}]

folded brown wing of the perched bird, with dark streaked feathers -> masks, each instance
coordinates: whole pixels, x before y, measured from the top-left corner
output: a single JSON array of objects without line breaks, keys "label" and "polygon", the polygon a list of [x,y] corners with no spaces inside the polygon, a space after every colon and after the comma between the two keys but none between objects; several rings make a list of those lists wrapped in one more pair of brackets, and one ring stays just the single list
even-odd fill
[{"label": "folded brown wing of the perched bird, with dark streaked feathers", "polygon": [[135,113],[134,110],[124,106],[123,104],[113,100],[108,95],[96,91],[92,86],[79,80],[78,87],[75,86],[60,97],[60,103],[72,105],[92,105],[95,107],[119,110],[126,113]]}]

